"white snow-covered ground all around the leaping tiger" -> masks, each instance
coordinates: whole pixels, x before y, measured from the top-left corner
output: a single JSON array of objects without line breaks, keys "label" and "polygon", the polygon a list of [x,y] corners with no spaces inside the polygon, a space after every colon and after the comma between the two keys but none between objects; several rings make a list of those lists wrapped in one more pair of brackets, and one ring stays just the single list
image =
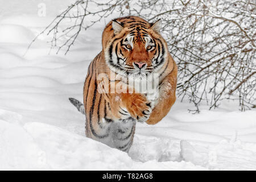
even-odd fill
[{"label": "white snow-covered ground all around the leaping tiger", "polygon": [[[28,44],[70,0],[0,0],[0,169],[256,169],[256,111],[225,102],[216,110],[178,99],[155,126],[137,124],[129,154],[86,138],[82,101],[105,22],[82,32],[65,56],[46,36]],[[45,17],[38,16],[45,3]]]}]

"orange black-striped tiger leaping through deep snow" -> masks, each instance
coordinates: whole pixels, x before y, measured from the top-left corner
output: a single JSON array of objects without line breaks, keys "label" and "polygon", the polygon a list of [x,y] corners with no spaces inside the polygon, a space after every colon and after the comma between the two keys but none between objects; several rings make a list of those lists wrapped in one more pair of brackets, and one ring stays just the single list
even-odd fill
[{"label": "orange black-striped tiger leaping through deep snow", "polygon": [[[85,114],[85,134],[118,150],[129,152],[137,122],[155,125],[170,111],[176,100],[177,65],[160,35],[161,20],[148,23],[138,16],[125,16],[110,21],[102,33],[102,51],[90,63],[84,82],[84,104],[69,98]],[[109,84],[102,86],[98,76],[105,73]],[[108,91],[113,84],[126,85],[126,78],[144,80],[157,73],[155,98],[138,92],[133,86]],[[111,77],[110,75],[119,75]],[[120,89],[119,89],[120,91]],[[127,91],[127,90],[126,90]],[[130,91],[130,90],[129,90]]]}]

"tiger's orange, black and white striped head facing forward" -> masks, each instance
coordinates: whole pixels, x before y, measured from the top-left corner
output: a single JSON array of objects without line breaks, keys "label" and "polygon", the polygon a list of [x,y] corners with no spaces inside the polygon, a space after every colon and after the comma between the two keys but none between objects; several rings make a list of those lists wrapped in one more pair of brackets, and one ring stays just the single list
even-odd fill
[{"label": "tiger's orange, black and white striped head facing forward", "polygon": [[105,61],[122,76],[143,77],[157,73],[168,59],[166,41],[159,31],[162,22],[148,23],[138,16],[110,22],[102,35]]}]

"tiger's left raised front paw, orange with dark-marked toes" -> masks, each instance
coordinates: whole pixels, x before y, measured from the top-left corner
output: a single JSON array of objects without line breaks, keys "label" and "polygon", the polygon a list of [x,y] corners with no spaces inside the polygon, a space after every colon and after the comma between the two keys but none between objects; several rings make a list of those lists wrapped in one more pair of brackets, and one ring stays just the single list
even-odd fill
[{"label": "tiger's left raised front paw, orange with dark-marked toes", "polygon": [[152,103],[142,94],[129,94],[123,99],[131,117],[138,122],[145,122],[152,112]]}]

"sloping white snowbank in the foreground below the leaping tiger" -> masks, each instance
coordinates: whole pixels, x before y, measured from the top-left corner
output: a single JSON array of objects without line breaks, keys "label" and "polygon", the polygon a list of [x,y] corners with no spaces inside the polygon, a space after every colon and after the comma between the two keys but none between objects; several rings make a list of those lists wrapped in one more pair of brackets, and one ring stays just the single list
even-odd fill
[{"label": "sloping white snowbank in the foreground below the leaping tiger", "polygon": [[200,169],[185,162],[158,166],[152,165],[154,160],[135,162],[100,142],[44,123],[22,126],[21,119],[19,114],[0,110],[0,169]]}]

